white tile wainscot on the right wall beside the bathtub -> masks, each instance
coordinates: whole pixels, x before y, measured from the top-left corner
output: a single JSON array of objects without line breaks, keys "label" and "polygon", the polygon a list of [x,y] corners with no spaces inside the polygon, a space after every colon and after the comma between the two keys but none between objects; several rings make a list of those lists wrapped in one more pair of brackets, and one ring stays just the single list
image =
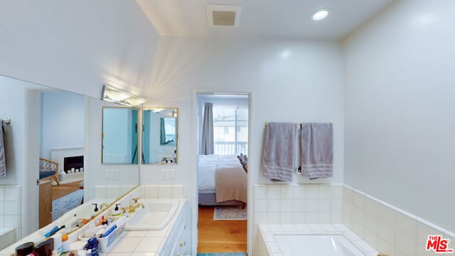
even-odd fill
[{"label": "white tile wainscot on the right wall beside the bathtub", "polygon": [[429,235],[450,239],[455,235],[376,198],[343,187],[343,224],[385,255],[435,255],[427,251]]}]

